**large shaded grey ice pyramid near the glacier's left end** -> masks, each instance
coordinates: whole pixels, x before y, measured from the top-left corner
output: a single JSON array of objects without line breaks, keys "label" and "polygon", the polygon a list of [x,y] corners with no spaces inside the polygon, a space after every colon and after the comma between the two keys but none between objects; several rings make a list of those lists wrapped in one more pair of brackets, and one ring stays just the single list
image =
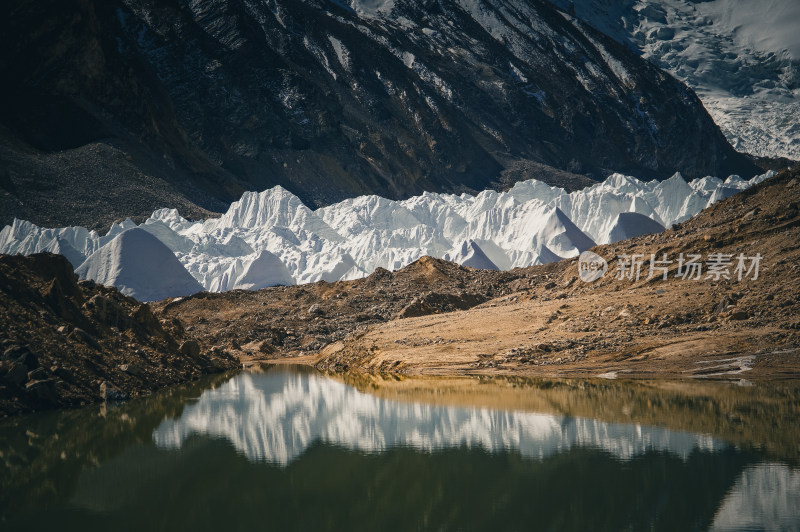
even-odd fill
[{"label": "large shaded grey ice pyramid near the glacier's left end", "polygon": [[139,301],[201,292],[194,277],[158,238],[144,229],[127,229],[92,253],[75,272]]}]

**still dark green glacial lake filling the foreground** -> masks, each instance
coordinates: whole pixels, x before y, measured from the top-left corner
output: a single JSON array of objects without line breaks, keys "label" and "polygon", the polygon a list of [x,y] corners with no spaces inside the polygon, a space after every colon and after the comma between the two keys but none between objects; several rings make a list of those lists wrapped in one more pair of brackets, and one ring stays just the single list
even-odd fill
[{"label": "still dark green glacial lake filling the foreground", "polygon": [[0,422],[0,530],[800,530],[800,384],[272,367]]}]

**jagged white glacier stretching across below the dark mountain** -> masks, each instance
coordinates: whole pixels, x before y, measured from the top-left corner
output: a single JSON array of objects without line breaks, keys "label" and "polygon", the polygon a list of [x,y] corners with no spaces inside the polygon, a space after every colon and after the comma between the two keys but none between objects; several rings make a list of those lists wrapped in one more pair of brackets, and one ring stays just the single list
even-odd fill
[{"label": "jagged white glacier stretching across below the dark mountain", "polygon": [[147,301],[350,280],[425,255],[508,270],[576,257],[642,228],[663,230],[774,174],[691,182],[680,174],[664,181],[612,174],[573,192],[529,180],[507,192],[360,196],[316,210],[276,186],[245,192],[219,218],[189,221],[165,208],[138,225],[115,223],[105,235],[14,220],[0,231],[0,253],[60,253],[81,278]]}]

